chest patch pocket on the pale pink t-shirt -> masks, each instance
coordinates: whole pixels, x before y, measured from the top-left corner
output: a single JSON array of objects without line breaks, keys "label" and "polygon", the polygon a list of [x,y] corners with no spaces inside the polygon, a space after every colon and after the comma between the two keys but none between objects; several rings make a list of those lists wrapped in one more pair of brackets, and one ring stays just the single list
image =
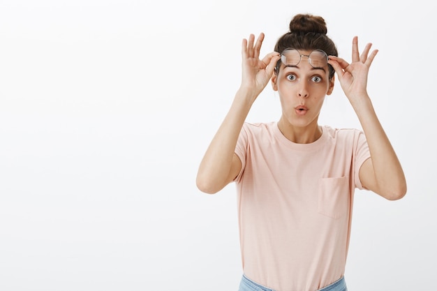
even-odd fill
[{"label": "chest patch pocket on the pale pink t-shirt", "polygon": [[318,187],[318,213],[341,218],[348,209],[348,176],[321,178]]}]

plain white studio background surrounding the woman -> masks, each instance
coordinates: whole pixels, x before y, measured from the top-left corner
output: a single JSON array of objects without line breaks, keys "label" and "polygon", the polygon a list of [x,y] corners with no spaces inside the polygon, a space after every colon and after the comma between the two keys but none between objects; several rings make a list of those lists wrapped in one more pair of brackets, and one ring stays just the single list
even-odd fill
[{"label": "plain white studio background surrounding the woman", "polygon": [[[242,38],[265,55],[307,12],[341,57],[355,35],[380,50],[369,94],[408,180],[396,202],[355,193],[348,288],[434,288],[432,2],[0,0],[0,290],[237,290],[235,186],[195,175]],[[248,121],[279,115],[268,86]],[[360,128],[339,84],[320,124]]]}]

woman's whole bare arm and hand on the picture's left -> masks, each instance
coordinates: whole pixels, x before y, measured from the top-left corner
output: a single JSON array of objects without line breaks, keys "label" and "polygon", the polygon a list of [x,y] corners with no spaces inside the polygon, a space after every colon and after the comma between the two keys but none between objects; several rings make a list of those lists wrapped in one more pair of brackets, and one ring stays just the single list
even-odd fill
[{"label": "woman's whole bare arm and hand on the picture's left", "polygon": [[242,42],[242,84],[235,94],[228,114],[209,144],[198,169],[196,184],[200,191],[216,193],[229,184],[242,168],[235,147],[244,121],[255,99],[273,75],[279,54],[271,52],[260,60],[264,34],[254,45],[255,37]]}]

